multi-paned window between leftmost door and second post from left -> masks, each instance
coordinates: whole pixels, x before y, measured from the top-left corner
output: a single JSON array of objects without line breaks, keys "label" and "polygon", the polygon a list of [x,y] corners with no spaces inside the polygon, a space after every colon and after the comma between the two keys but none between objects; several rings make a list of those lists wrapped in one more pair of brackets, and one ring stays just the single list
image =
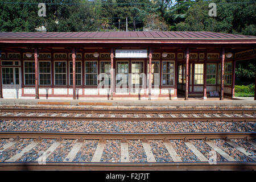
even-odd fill
[{"label": "multi-paned window between leftmost door and second post from left", "polygon": [[35,85],[35,62],[24,61],[25,85]]}]

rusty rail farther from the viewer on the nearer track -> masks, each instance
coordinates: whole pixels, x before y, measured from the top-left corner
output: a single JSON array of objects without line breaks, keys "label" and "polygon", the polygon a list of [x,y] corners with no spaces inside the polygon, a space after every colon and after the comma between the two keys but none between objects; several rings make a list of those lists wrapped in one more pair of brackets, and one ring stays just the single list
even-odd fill
[{"label": "rusty rail farther from the viewer on the nearer track", "polygon": [[187,132],[187,133],[82,133],[1,131],[0,138],[34,139],[255,139],[256,132]]}]

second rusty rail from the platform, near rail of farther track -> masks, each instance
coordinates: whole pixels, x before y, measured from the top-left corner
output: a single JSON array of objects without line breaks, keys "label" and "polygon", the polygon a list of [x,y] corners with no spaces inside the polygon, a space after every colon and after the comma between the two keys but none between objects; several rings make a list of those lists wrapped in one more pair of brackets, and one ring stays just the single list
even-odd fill
[{"label": "second rusty rail from the platform, near rail of farther track", "polygon": [[51,116],[32,116],[32,117],[27,117],[27,116],[1,116],[0,119],[6,120],[6,119],[11,119],[11,120],[48,120],[48,121],[56,121],[56,120],[63,120],[63,121],[70,121],[70,120],[75,120],[75,121],[133,121],[133,122],[138,122],[138,121],[154,121],[154,122],[214,122],[214,121],[221,121],[221,122],[255,122],[256,117],[199,117],[199,118],[191,118],[191,117],[164,117],[164,118],[123,118],[123,117],[51,117]]}]

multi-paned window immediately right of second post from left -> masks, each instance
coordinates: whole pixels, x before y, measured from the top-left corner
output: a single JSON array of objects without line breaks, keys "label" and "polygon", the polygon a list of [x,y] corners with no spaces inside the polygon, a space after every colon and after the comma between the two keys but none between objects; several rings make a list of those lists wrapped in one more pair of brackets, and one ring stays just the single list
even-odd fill
[{"label": "multi-paned window immediately right of second post from left", "polygon": [[39,61],[39,85],[51,85],[50,61]]}]

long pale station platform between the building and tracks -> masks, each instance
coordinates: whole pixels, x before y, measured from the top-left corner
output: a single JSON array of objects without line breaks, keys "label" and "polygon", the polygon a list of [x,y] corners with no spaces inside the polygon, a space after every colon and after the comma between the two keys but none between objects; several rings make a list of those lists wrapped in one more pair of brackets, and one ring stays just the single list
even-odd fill
[{"label": "long pale station platform between the building and tracks", "polygon": [[237,108],[256,109],[254,100],[232,100],[224,98],[189,98],[189,100],[46,100],[46,99],[0,99],[0,106],[12,107],[64,107],[88,109],[200,109],[200,108]]}]

